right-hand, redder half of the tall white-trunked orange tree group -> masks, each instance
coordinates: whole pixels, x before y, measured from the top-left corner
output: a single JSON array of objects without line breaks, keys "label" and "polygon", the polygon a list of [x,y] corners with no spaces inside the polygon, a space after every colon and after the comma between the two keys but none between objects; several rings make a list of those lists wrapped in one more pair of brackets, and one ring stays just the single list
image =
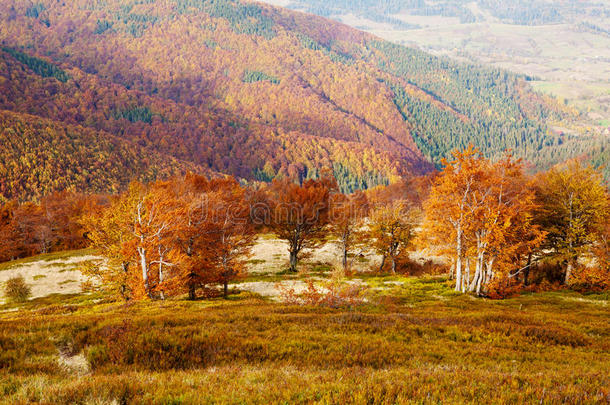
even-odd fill
[{"label": "right-hand, redder half of the tall white-trunked orange tree group", "polygon": [[[516,277],[529,270],[532,257],[546,233],[533,224],[536,208],[531,181],[520,160],[511,155],[491,163],[486,182],[478,184],[468,204],[469,253],[475,273],[466,275],[468,291],[503,294],[517,283]],[[525,273],[527,274],[527,273]]]}]

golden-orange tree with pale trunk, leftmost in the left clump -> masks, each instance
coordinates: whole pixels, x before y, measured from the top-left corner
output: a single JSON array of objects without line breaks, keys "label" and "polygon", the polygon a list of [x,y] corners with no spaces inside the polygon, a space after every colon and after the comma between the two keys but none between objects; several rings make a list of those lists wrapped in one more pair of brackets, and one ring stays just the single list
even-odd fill
[{"label": "golden-orange tree with pale trunk, leftmost in the left clump", "polygon": [[169,187],[168,182],[134,182],[99,219],[84,220],[93,246],[109,258],[98,269],[100,276],[123,295],[164,299],[179,292],[171,281],[183,261],[175,235],[182,205]]}]

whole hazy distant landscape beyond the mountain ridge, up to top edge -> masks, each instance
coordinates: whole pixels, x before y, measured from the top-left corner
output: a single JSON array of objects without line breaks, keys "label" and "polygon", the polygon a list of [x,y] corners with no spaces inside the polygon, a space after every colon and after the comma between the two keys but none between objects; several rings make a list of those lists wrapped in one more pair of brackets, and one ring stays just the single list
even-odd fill
[{"label": "whole hazy distant landscape beyond the mountain ridge, up to top edge", "polygon": [[536,78],[534,87],[610,126],[610,13],[599,1],[266,0],[399,44]]}]

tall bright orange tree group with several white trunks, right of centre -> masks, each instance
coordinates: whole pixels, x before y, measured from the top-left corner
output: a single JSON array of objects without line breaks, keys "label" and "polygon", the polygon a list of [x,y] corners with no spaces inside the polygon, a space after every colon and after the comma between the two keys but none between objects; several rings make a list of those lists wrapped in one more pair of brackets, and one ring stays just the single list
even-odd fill
[{"label": "tall bright orange tree group with several white trunks, right of centre", "polygon": [[492,282],[506,288],[544,238],[532,223],[532,188],[510,155],[495,163],[473,148],[453,156],[424,204],[422,236],[428,245],[451,247],[445,252],[451,252],[456,291],[482,294]]}]

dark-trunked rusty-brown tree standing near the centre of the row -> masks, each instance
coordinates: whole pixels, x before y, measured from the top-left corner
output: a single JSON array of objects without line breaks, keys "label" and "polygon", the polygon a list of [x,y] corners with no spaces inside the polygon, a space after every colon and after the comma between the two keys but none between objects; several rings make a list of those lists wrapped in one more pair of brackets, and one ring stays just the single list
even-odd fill
[{"label": "dark-trunked rusty-brown tree standing near the centre of the row", "polygon": [[278,238],[288,242],[290,271],[295,272],[304,249],[319,246],[329,221],[330,178],[307,180],[303,185],[275,180],[269,187],[270,225]]}]

